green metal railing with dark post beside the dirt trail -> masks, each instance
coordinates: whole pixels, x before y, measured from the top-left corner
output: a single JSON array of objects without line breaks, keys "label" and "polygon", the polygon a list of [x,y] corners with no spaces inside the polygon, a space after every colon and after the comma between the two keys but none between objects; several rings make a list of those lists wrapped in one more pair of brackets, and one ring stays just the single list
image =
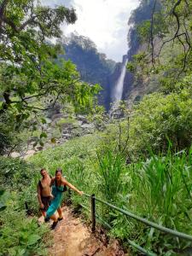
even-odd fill
[{"label": "green metal railing with dark post beside the dirt trail", "polygon": [[[192,241],[192,236],[189,236],[189,235],[184,234],[182,232],[178,232],[177,230],[168,229],[168,228],[163,227],[163,226],[161,226],[159,224],[155,224],[154,222],[148,221],[148,219],[146,219],[146,218],[141,218],[141,217],[137,216],[136,214],[133,214],[133,213],[128,212],[128,211],[125,211],[124,209],[121,209],[119,207],[113,206],[112,204],[108,203],[108,201],[103,201],[103,200],[101,200],[99,198],[96,198],[95,195],[84,194],[84,196],[90,198],[90,202],[91,202],[91,210],[89,208],[85,207],[84,205],[81,205],[81,206],[84,207],[87,211],[91,212],[92,232],[96,231],[96,218],[98,218],[103,224],[108,226],[109,229],[112,228],[110,224],[106,223],[104,220],[102,220],[102,218],[100,218],[98,216],[98,214],[96,214],[96,201],[98,201],[98,202],[100,202],[100,203],[102,203],[102,204],[104,204],[104,205],[106,205],[108,207],[113,208],[114,210],[116,210],[118,212],[121,212],[121,213],[125,214],[126,216],[128,216],[130,218],[134,218],[137,221],[142,222],[143,224],[147,224],[148,226],[153,227],[156,230],[160,230],[161,232],[164,232],[166,234],[170,234],[172,236],[176,236],[176,237],[181,238],[181,239]],[[149,256],[156,255],[155,253],[148,252],[143,247],[140,247],[134,241],[131,241],[129,239],[127,241],[130,243],[130,245],[132,247],[135,247],[138,251],[140,251],[142,253],[145,253],[146,255],[149,255]]]}]

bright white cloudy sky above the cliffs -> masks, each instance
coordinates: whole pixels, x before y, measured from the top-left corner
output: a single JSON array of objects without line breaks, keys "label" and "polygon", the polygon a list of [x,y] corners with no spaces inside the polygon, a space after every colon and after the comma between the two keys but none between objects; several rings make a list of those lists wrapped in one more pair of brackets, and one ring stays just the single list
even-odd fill
[{"label": "bright white cloudy sky above the cliffs", "polygon": [[127,53],[127,21],[139,0],[42,0],[54,6],[64,4],[76,9],[78,20],[74,25],[63,26],[65,35],[78,32],[90,38],[97,49],[114,61],[122,61]]}]

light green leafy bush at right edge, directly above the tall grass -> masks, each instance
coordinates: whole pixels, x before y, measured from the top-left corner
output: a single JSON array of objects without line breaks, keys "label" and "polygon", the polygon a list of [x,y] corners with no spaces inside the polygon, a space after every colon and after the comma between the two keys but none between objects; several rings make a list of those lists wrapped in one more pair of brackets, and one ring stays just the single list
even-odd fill
[{"label": "light green leafy bush at right edge, directly above the tall grass", "polygon": [[189,148],[192,142],[192,98],[189,89],[164,96],[154,93],[144,96],[131,120],[130,151],[134,155]]}]

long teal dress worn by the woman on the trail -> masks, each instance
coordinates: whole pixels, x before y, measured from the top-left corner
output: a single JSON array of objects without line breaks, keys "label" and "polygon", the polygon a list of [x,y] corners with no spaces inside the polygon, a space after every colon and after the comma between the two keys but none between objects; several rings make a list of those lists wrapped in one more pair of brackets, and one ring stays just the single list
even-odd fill
[{"label": "long teal dress worn by the woman on the trail", "polygon": [[64,185],[57,187],[54,183],[54,185],[52,186],[52,194],[54,195],[54,199],[51,201],[51,204],[46,212],[46,218],[52,216],[55,211],[60,207],[63,189]]}]

